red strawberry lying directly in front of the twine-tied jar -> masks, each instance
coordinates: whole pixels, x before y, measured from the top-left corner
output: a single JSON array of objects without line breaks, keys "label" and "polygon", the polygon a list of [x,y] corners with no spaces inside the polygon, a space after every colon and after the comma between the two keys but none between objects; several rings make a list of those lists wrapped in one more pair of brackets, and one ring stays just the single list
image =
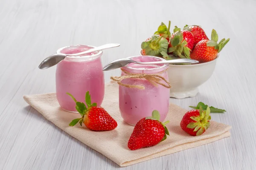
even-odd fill
[{"label": "red strawberry lying directly in front of the twine-tied jar", "polygon": [[128,148],[137,150],[142,147],[151,147],[165,140],[166,135],[169,135],[165,125],[169,121],[162,123],[159,119],[159,112],[154,110],[152,117],[146,117],[137,122],[128,141]]}]

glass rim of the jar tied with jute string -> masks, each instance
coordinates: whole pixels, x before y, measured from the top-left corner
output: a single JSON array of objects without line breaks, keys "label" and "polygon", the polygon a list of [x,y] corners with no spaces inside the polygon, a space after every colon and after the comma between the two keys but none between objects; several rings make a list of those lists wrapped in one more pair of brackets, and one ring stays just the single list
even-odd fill
[{"label": "glass rim of the jar tied with jute string", "polygon": [[[163,58],[160,58],[160,57],[155,57],[155,56],[132,56],[132,57],[127,57],[128,59],[133,59],[134,57],[150,57],[150,58],[154,58],[154,59],[157,59],[159,61],[166,61],[166,59],[163,59]],[[169,67],[169,64],[161,64],[161,66],[159,67],[155,67],[155,68],[148,68],[148,69],[142,69],[142,68],[133,68],[132,66],[129,67],[129,65],[126,65],[124,66],[125,70],[129,71],[146,71],[146,72],[160,72],[160,71],[163,71],[165,69],[167,69]],[[129,71],[130,72],[130,71]]]}]

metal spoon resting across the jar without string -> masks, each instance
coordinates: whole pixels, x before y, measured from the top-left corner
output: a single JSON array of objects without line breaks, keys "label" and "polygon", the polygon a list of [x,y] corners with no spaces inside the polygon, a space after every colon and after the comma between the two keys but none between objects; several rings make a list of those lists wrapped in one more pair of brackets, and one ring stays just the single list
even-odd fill
[{"label": "metal spoon resting across the jar without string", "polygon": [[118,47],[118,46],[120,46],[120,44],[105,44],[105,45],[101,45],[99,47],[92,48],[90,50],[83,51],[83,52],[77,53],[77,54],[62,54],[62,53],[53,54],[53,55],[47,57],[46,59],[44,59],[41,62],[41,64],[38,66],[38,68],[46,69],[46,68],[52,67],[53,65],[56,65],[59,62],[61,62],[67,56],[75,57],[75,56],[79,56],[79,55],[82,55],[82,54],[91,53],[93,51],[100,51],[100,50],[104,50],[104,49],[107,49],[107,48],[113,48],[113,47]]}]

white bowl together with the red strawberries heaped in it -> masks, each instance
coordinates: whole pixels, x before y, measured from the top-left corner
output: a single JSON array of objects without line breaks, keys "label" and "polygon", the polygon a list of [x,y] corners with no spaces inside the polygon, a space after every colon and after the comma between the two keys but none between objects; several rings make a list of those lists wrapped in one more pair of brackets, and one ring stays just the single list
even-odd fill
[{"label": "white bowl together with the red strawberries heaped in it", "polygon": [[219,53],[229,42],[223,38],[218,42],[218,34],[212,29],[211,39],[200,26],[175,26],[170,32],[161,23],[157,31],[141,43],[140,55],[151,55],[166,60],[189,58],[198,60],[198,64],[170,64],[168,68],[169,82],[172,85],[170,97],[183,99],[198,94],[198,87],[206,82],[215,69]]}]

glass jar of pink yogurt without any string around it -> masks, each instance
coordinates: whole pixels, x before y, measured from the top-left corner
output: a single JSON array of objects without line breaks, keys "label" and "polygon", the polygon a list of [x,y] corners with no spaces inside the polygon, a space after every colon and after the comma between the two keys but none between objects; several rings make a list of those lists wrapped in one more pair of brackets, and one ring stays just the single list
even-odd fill
[{"label": "glass jar of pink yogurt without any string around it", "polygon": [[[58,49],[57,53],[76,54],[95,48],[89,45],[71,45]],[[66,93],[72,94],[77,101],[83,102],[90,92],[91,102],[101,105],[104,98],[104,73],[101,62],[102,51],[81,56],[67,56],[56,68],[56,96],[58,103],[66,111],[77,112],[76,103]]]}]

